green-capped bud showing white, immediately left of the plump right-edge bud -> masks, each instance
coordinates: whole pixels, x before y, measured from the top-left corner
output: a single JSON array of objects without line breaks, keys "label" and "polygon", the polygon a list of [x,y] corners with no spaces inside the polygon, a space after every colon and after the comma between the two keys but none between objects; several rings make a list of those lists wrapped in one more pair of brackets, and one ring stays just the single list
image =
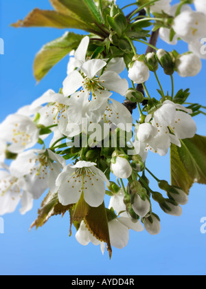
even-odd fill
[{"label": "green-capped bud showing white, immediately left of the plump right-edge bud", "polygon": [[163,67],[165,74],[172,75],[174,73],[174,58],[171,54],[163,49],[159,49],[156,57],[161,67]]}]

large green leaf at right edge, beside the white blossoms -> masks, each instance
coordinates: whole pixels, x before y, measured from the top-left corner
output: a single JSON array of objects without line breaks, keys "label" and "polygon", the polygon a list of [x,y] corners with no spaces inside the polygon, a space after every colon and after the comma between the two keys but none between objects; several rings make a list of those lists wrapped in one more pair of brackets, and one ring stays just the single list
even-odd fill
[{"label": "large green leaf at right edge, beside the white blossoms", "polygon": [[206,184],[206,137],[181,140],[181,147],[171,147],[172,185],[189,193],[192,184]]}]

